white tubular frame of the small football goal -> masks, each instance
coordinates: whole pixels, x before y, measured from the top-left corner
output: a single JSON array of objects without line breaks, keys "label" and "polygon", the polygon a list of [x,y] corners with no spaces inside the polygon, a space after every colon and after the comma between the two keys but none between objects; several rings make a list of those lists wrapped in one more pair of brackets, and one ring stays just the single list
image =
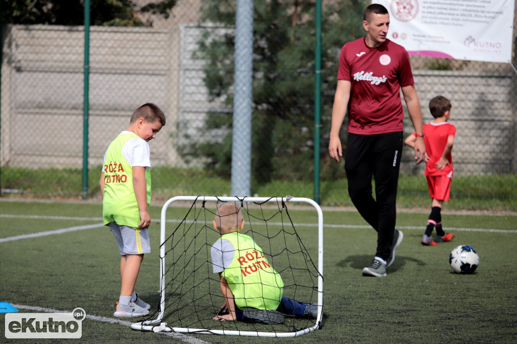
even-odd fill
[{"label": "white tubular frame of the small football goal", "polygon": [[[165,223],[168,207],[176,201],[209,201],[209,202],[302,202],[312,205],[318,214],[318,312],[316,317],[316,324],[312,327],[303,328],[297,332],[254,332],[254,331],[230,331],[230,330],[208,330],[206,328],[188,328],[188,327],[169,327],[166,323],[162,323],[163,315],[165,312],[165,279],[163,276],[163,267],[165,266]],[[178,333],[202,333],[202,334],[218,334],[218,335],[236,335],[236,336],[254,336],[254,337],[296,337],[303,334],[318,330],[322,327],[322,316],[323,316],[323,213],[320,206],[309,198],[297,198],[292,196],[287,197],[211,197],[211,196],[177,196],[169,199],[162,207],[161,211],[161,222],[160,222],[160,313],[155,320],[148,320],[143,322],[137,322],[131,324],[133,330],[140,331],[153,331],[153,332],[178,332]]]}]

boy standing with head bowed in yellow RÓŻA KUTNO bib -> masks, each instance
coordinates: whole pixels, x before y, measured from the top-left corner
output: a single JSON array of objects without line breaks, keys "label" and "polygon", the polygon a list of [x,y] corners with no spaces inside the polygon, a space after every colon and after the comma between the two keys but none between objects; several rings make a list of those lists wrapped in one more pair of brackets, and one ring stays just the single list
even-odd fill
[{"label": "boy standing with head bowed in yellow R\u00d3\u017bA KUTNO bib", "polygon": [[115,317],[142,317],[150,306],[134,292],[136,278],[150,253],[147,211],[151,200],[149,142],[165,125],[163,111],[153,103],[136,109],[129,128],[120,132],[104,155],[100,178],[102,217],[120,252],[121,288]]}]

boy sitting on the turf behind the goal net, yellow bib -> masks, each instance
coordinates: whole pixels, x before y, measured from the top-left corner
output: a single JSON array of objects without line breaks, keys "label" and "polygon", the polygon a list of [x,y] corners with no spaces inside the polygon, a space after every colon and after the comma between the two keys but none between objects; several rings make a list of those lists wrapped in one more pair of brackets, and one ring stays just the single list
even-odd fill
[{"label": "boy sitting on the turf behind the goal net, yellow bib", "polygon": [[[240,208],[224,203],[216,212],[214,228],[221,238],[210,249],[214,273],[219,273],[224,304],[214,320],[253,319],[268,324],[284,321],[283,314],[315,319],[317,306],[282,295],[284,283],[262,249],[246,235]],[[228,312],[227,314],[224,314]]]}]

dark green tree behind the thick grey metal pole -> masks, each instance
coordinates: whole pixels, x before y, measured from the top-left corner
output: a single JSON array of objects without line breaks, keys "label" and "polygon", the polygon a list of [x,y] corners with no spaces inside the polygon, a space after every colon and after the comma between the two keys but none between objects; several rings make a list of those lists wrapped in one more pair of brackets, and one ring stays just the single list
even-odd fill
[{"label": "dark green tree behind the thick grey metal pole", "polygon": [[[254,2],[252,177],[312,178],[314,149],[315,5],[313,0]],[[324,2],[322,13],[322,113],[329,116],[336,87],[338,58],[346,41],[363,36],[362,13],[369,2]],[[233,103],[235,0],[204,0],[205,22],[232,28],[207,31],[195,57],[206,61],[205,85],[212,98]],[[231,129],[232,113],[210,113],[206,133]],[[219,141],[191,143],[185,154],[203,157],[205,167],[231,173],[231,130]],[[323,145],[322,145],[323,146]],[[325,150],[326,151],[326,150]],[[335,165],[335,164],[334,164]]]}]

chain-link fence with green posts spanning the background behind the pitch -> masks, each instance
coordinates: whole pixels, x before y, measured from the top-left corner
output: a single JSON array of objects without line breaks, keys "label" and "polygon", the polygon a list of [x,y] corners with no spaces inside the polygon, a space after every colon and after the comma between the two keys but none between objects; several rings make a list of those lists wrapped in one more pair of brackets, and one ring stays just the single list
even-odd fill
[{"label": "chain-link fence with green posts spanning the background behind the pitch", "polygon": [[[323,205],[352,206],[343,162],[328,156],[342,45],[363,35],[369,2],[324,2],[322,140],[314,144],[314,4],[255,2],[251,194],[314,198],[321,150]],[[312,4],[312,5],[311,5]],[[109,143],[146,102],[165,112],[150,142],[153,198],[230,195],[235,2],[179,1],[152,27],[90,27],[88,198]],[[2,197],[81,198],[82,26],[4,25],[1,88]],[[516,35],[514,33],[514,39]],[[424,123],[429,100],[452,102],[456,209],[517,211],[517,74],[510,64],[411,56]],[[413,132],[408,116],[405,134]],[[346,124],[342,130],[346,149]],[[404,149],[399,206],[430,204],[423,166]]]}]

